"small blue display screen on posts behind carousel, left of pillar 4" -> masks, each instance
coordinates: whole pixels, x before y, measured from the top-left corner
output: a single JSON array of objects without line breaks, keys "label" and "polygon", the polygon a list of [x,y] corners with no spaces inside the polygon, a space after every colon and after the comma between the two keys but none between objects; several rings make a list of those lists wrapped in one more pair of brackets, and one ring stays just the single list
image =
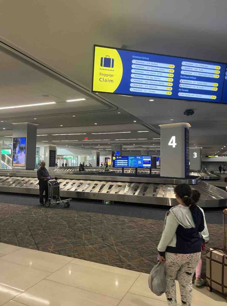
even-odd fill
[{"label": "small blue display screen on posts behind carousel, left of pillar 4", "polygon": [[114,156],[113,167],[151,168],[151,156]]}]

